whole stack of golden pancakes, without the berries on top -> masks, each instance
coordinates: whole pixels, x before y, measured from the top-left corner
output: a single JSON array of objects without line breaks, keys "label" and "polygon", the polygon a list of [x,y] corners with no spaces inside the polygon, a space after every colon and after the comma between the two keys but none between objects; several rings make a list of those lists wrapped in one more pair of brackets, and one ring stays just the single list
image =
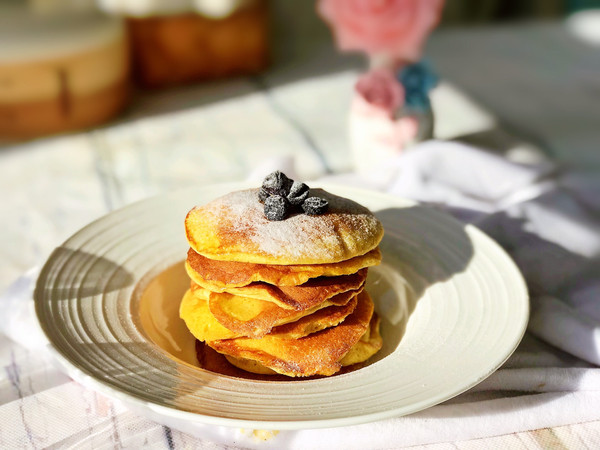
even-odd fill
[{"label": "whole stack of golden pancakes, without the berries on top", "polygon": [[381,223],[320,189],[325,214],[265,218],[258,189],[192,209],[185,220],[192,280],[180,306],[191,333],[255,374],[332,375],[381,348],[364,290],[379,264]]}]

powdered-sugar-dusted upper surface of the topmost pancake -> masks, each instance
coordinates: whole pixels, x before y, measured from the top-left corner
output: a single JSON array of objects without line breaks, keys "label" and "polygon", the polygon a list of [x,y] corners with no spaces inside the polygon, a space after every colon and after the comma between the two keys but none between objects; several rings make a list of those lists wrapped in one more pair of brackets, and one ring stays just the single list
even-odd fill
[{"label": "powdered-sugar-dusted upper surface of the topmost pancake", "polygon": [[200,209],[217,219],[216,233],[226,236],[223,241],[240,251],[276,258],[339,261],[349,254],[366,253],[378,243],[381,224],[367,208],[322,189],[311,189],[311,195],[329,202],[327,213],[295,213],[282,221],[269,221],[258,201],[258,189],[229,193]]}]

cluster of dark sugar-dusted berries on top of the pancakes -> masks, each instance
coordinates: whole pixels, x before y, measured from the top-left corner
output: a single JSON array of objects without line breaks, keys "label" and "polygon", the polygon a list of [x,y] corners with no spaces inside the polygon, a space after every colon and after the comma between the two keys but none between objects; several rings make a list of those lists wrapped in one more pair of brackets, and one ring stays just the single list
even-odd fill
[{"label": "cluster of dark sugar-dusted berries on top of the pancakes", "polygon": [[266,176],[258,191],[258,200],[265,205],[265,217],[284,220],[292,212],[304,211],[316,216],[327,211],[329,203],[321,197],[309,197],[309,188],[299,181],[290,180],[276,171]]}]

